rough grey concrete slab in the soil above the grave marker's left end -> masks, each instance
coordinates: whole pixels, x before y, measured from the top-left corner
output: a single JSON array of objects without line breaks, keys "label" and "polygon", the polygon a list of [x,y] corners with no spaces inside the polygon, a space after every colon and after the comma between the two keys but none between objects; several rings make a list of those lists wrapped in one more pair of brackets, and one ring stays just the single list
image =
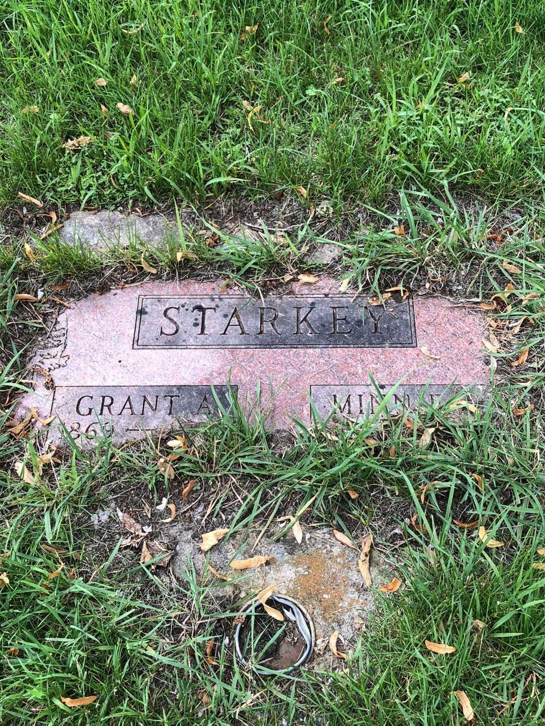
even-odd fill
[{"label": "rough grey concrete slab in the soil above the grave marker's left end", "polygon": [[160,247],[171,229],[171,223],[161,214],[140,216],[108,209],[76,211],[62,225],[60,238],[69,245],[81,242],[96,250],[111,245],[126,246],[132,240]]}]

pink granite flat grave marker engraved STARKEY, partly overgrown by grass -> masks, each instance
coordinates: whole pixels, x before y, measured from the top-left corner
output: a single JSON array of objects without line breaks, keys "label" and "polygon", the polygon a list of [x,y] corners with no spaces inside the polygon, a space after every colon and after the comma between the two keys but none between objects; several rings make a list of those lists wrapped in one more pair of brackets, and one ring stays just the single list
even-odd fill
[{"label": "pink granite flat grave marker engraved STARKEY, partly overgrown by grass", "polygon": [[72,303],[33,356],[19,413],[56,414],[79,443],[119,442],[217,417],[233,396],[270,428],[291,428],[312,407],[372,414],[402,379],[390,409],[488,380],[482,317],[444,298],[395,294],[380,306],[326,279],[251,298],[223,284],[146,282]]}]

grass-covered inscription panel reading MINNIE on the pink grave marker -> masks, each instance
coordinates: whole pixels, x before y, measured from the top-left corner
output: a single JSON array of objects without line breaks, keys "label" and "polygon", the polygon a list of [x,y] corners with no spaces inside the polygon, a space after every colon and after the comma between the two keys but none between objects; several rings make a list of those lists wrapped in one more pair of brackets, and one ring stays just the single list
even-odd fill
[{"label": "grass-covered inscription panel reading MINNIE on the pink grave marker", "polygon": [[[382,396],[386,396],[388,391],[395,386],[395,383],[377,384]],[[396,407],[403,407],[403,401],[407,401],[406,408],[413,407],[416,401],[419,401],[422,391],[426,391],[424,401],[427,404],[434,405],[446,393],[447,397],[463,391],[464,388],[470,388],[468,395],[471,393],[480,395],[483,393],[483,386],[477,386],[472,383],[461,385],[461,383],[402,383],[397,387],[394,395],[387,403],[387,409],[391,411]],[[334,404],[333,397],[337,397]],[[343,396],[343,398],[341,398]],[[344,401],[344,396],[353,396],[348,403]],[[445,400],[447,400],[445,397]],[[331,383],[310,386],[310,417],[312,419],[312,405],[322,419],[326,419],[331,412],[334,411],[335,405],[339,405],[336,411],[337,415],[349,416],[352,418],[366,417],[367,411],[369,415],[373,415],[376,407],[379,406],[380,400],[375,386],[366,383],[363,386],[357,384]],[[331,403],[330,403],[331,401]]]}]

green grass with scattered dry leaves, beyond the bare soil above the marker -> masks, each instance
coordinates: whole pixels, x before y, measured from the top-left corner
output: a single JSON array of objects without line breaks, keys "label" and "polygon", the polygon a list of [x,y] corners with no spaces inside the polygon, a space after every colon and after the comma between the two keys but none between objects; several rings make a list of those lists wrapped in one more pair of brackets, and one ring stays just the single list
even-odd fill
[{"label": "green grass with scattered dry leaves, beyond the bare soil above the marker", "polygon": [[[7,0],[1,203],[198,204],[302,185],[340,211],[445,182],[542,200],[544,13],[534,0]],[[82,135],[92,143],[63,148]]]}]

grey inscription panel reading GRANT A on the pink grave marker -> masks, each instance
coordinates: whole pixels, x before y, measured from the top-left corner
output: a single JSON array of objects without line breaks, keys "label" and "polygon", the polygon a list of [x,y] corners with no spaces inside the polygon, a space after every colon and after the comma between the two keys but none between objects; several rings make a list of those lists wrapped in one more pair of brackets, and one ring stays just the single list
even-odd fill
[{"label": "grey inscription panel reading GRANT A on the pink grave marker", "polygon": [[[228,386],[57,386],[51,412],[73,439],[101,436],[130,439],[142,431],[202,423],[229,409]],[[237,386],[231,386],[236,396]],[[102,427],[102,428],[101,428]]]}]

